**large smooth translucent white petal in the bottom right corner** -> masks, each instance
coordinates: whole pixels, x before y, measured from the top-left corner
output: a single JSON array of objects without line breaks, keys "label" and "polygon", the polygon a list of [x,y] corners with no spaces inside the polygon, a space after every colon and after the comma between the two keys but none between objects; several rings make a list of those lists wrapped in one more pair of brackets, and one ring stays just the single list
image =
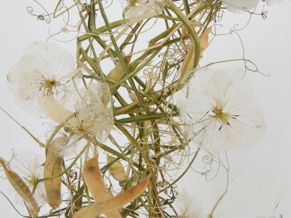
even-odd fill
[{"label": "large smooth translucent white petal in the bottom right corner", "polygon": [[247,175],[235,179],[219,202],[213,217],[270,217],[287,185],[281,179],[269,175]]}]

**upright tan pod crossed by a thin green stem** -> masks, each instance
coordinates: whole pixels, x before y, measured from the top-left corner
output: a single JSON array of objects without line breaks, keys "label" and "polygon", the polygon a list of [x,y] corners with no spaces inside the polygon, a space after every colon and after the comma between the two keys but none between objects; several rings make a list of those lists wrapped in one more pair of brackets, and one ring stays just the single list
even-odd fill
[{"label": "upright tan pod crossed by a thin green stem", "polygon": [[[46,155],[46,162],[45,162],[45,168],[44,168],[45,178],[49,178],[51,176],[54,176],[62,172],[62,159],[63,158],[55,156],[53,153],[53,149],[54,147],[59,146],[58,145],[59,143],[65,145],[66,138],[67,138],[66,136],[59,137],[51,142],[51,145],[49,146],[49,150]],[[62,176],[58,176],[54,179],[45,181],[45,188],[46,188],[48,203],[49,203],[49,206],[51,206],[53,209],[56,209],[62,203],[61,183],[62,183]]]}]

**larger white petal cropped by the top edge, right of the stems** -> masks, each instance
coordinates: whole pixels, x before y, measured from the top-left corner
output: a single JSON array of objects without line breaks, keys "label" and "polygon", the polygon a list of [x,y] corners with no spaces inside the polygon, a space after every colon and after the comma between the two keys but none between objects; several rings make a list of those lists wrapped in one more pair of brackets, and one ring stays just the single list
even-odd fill
[{"label": "larger white petal cropped by the top edge, right of the stems", "polygon": [[243,13],[254,9],[260,0],[222,0],[226,8],[231,13]]}]

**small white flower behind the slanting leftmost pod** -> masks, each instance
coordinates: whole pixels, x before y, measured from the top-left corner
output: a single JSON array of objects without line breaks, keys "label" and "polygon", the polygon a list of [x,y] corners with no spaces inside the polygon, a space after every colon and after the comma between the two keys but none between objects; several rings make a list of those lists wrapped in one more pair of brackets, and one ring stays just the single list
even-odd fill
[{"label": "small white flower behind the slanting leftmost pod", "polygon": [[[36,181],[44,178],[45,156],[37,155],[32,149],[22,150],[18,152],[10,162],[10,168],[15,171],[22,180],[26,183],[31,191]],[[37,183],[34,189],[33,197],[38,205],[44,205],[46,202],[42,198],[42,194],[45,193],[44,182]],[[16,202],[19,204],[22,202],[22,198],[16,198]]]}]

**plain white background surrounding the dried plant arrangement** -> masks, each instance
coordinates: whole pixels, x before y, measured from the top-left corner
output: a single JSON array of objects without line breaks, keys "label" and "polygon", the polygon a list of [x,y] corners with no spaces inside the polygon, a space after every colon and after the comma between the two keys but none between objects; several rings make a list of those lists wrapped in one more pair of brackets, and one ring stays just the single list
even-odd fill
[{"label": "plain white background surrounding the dried plant arrangement", "polygon": [[[114,1],[114,3],[119,6],[118,1]],[[26,11],[27,6],[37,8],[36,3],[29,0],[2,1],[0,107],[9,112],[34,136],[44,141],[47,126],[42,125],[43,120],[36,119],[18,108],[6,81],[9,68],[20,59],[24,49],[34,41],[46,40],[49,37],[49,27],[54,25],[54,21],[51,24],[37,21],[35,16],[29,15]],[[263,20],[261,16],[253,16],[247,27],[238,32],[242,38],[245,58],[255,62],[262,73],[271,74],[271,77],[248,72],[255,95],[263,106],[267,132],[266,136],[250,149],[228,152],[229,181],[248,174],[268,174],[280,177],[287,182],[291,181],[290,8],[289,0],[285,0],[280,5],[265,7],[265,10],[268,11],[267,19]],[[38,10],[37,13],[44,12]],[[246,13],[243,15],[226,13],[221,22],[224,25],[222,32],[229,32],[229,29],[233,29],[236,23],[240,25],[238,28],[240,29],[247,23],[248,17],[249,14]],[[58,26],[59,29],[61,27]],[[60,45],[70,50],[73,55],[75,54],[75,41]],[[203,56],[201,65],[238,59],[242,58],[242,47],[235,34],[226,37],[218,36]],[[243,66],[242,63],[237,63],[237,65]],[[44,150],[39,148],[38,144],[2,111],[0,111],[0,124],[0,156],[4,159],[9,160],[12,149],[19,151],[24,148],[32,148],[39,154],[44,153]],[[220,173],[223,174],[225,171],[220,171]],[[4,173],[1,172],[0,175],[3,176]],[[220,180],[219,177],[205,182],[204,176],[199,176],[190,170],[187,173],[187,179],[185,178],[184,182],[180,182],[178,185],[187,187],[190,194],[198,195],[203,201],[204,212],[209,214],[217,196],[225,188],[225,183],[226,181]],[[0,179],[0,184],[0,190],[14,201],[8,182]],[[218,187],[219,185],[221,187]],[[273,216],[278,218],[279,214],[282,214],[284,218],[291,217],[290,196],[291,187],[288,186]],[[20,217],[1,194],[0,202],[1,217]],[[26,215],[25,209],[20,208],[20,211]]]}]

